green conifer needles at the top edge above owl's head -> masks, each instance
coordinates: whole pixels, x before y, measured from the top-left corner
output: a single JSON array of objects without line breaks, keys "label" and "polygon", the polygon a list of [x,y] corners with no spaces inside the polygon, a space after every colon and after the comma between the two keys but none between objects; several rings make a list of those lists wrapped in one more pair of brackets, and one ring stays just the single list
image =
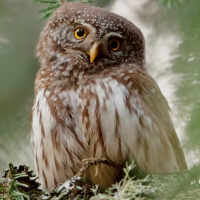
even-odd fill
[{"label": "green conifer needles at the top edge above owl's head", "polygon": [[46,8],[39,11],[44,16],[42,19],[48,18],[60,5],[65,2],[81,2],[81,3],[93,3],[93,0],[35,0],[36,2],[45,4]]}]

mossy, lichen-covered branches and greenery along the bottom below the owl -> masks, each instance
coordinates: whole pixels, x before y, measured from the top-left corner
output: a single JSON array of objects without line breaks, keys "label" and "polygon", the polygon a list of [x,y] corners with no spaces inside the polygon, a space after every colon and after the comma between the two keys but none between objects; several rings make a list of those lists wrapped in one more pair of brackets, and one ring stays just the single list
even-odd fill
[{"label": "mossy, lichen-covered branches and greenery along the bottom below the owl", "polygon": [[[0,199],[92,199],[92,200],[194,200],[200,199],[200,165],[173,175],[147,175],[136,179],[131,174],[135,165],[127,165],[125,176],[119,182],[102,191],[98,186],[86,186],[80,177],[73,177],[51,193],[38,189],[33,171],[26,166],[9,165],[9,171],[0,183]],[[88,184],[89,185],[89,184]]]}]

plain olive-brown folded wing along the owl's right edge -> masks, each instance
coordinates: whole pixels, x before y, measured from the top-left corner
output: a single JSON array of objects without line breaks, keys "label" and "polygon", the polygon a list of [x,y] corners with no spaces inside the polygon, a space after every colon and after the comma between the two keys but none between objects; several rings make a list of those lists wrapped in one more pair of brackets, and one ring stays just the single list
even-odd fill
[{"label": "plain olive-brown folded wing along the owl's right edge", "polygon": [[[163,142],[169,144],[168,148],[170,149],[168,149],[168,151],[172,153],[177,164],[177,169],[187,169],[185,155],[169,115],[170,108],[167,100],[163,96],[155,80],[149,74],[138,69],[137,78],[138,81],[139,79],[142,80],[140,82],[141,90],[139,92],[143,104],[142,107],[157,126],[157,132],[160,133],[160,141],[164,139],[161,137],[165,135],[166,141]],[[136,76],[134,77],[136,80],[137,78]]]}]

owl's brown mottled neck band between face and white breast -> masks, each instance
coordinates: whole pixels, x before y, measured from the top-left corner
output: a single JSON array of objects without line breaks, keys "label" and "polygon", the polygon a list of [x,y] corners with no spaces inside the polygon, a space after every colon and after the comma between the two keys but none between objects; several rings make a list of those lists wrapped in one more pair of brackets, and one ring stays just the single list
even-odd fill
[{"label": "owl's brown mottled neck band between face and white breast", "polygon": [[44,57],[40,57],[41,68],[35,80],[36,92],[46,87],[77,88],[84,79],[93,78],[104,70],[128,64],[116,64],[111,61],[107,64],[106,60],[90,64],[87,57],[75,51],[55,52],[51,56],[45,53],[43,55]]}]

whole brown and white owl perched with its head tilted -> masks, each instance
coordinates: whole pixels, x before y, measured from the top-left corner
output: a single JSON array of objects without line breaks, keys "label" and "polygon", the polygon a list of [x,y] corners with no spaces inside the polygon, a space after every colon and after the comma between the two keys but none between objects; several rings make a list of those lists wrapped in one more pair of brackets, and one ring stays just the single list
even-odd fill
[{"label": "whole brown and white owl perched with its head tilted", "polygon": [[[134,161],[144,172],[187,169],[167,100],[145,69],[142,32],[88,4],[64,3],[41,32],[31,143],[39,181],[51,190],[86,158]],[[109,187],[122,171],[91,167],[85,181]]]}]

